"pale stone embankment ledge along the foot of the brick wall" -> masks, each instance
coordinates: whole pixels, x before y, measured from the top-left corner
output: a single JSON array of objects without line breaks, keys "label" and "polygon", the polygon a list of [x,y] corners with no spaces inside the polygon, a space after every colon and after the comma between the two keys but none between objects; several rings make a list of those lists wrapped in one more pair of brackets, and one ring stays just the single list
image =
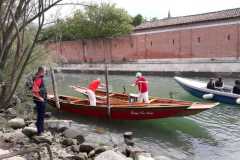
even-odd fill
[{"label": "pale stone embankment ledge along the foot of the brick wall", "polygon": [[[240,78],[240,61],[232,59],[141,60],[126,63],[109,63],[108,72],[113,75],[132,75],[142,72],[152,76],[231,77]],[[104,63],[62,64],[55,72],[104,74]]]}]

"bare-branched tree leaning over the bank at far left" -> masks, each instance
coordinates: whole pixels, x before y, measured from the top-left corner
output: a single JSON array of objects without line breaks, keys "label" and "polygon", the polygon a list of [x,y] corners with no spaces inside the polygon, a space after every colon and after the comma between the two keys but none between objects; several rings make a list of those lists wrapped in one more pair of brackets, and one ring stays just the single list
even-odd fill
[{"label": "bare-branched tree leaning over the bank at far left", "polygon": [[0,0],[0,108],[8,106],[19,85],[44,25],[44,13],[61,1]]}]

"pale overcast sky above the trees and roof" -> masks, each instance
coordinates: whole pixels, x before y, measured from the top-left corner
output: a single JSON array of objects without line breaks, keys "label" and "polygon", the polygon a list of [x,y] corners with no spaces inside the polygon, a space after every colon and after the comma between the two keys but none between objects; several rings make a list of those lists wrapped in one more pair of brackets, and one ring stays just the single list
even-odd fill
[{"label": "pale overcast sky above the trees and roof", "polygon": [[[240,7],[240,0],[64,0],[63,2],[112,2],[124,8],[132,16],[141,14],[146,18],[184,16]],[[80,6],[60,6],[48,13],[48,18],[65,17],[81,8]]]}]

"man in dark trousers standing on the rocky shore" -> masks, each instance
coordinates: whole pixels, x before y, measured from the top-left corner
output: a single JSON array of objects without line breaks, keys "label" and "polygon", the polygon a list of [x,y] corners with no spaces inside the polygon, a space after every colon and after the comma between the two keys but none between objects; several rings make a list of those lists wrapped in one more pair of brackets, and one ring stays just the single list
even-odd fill
[{"label": "man in dark trousers standing on the rocky shore", "polygon": [[38,67],[38,71],[33,78],[32,94],[33,102],[36,104],[37,109],[37,133],[41,135],[44,132],[44,116],[47,103],[47,90],[44,84],[45,69]]}]

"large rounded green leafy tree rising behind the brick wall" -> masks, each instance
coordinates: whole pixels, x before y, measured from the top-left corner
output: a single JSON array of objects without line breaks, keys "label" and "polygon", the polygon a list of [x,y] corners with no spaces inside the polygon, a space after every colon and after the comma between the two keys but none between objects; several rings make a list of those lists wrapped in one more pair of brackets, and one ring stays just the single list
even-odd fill
[{"label": "large rounded green leafy tree rising behind the brick wall", "polygon": [[115,4],[101,3],[77,10],[73,17],[44,29],[41,40],[115,37],[128,34],[132,29],[132,18],[127,11]]}]

